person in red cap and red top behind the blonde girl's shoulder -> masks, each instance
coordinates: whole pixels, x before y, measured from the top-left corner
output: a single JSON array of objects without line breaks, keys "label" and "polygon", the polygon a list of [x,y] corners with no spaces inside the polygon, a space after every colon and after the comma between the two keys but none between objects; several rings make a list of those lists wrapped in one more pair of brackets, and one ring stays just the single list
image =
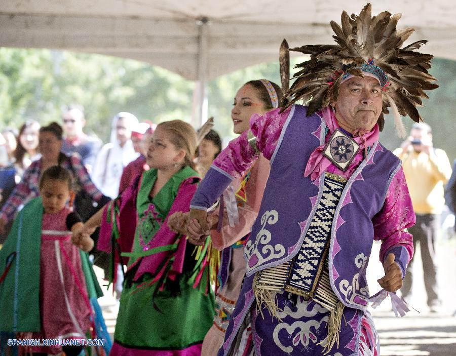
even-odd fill
[{"label": "person in red cap and red top behind the blonde girl's shoulder", "polygon": [[[146,123],[140,123],[139,125],[142,124]],[[135,181],[138,175],[149,169],[149,166],[146,163],[146,155],[147,150],[149,149],[150,139],[152,138],[152,134],[154,133],[157,125],[146,125],[148,128],[146,128],[143,134],[139,132],[139,130],[142,131],[142,128],[138,128],[136,129],[137,131],[132,132],[133,147],[136,146],[135,151],[139,153],[139,157],[136,160],[130,162],[127,167],[124,168],[119,184],[119,194],[128,188]],[[135,140],[133,140],[133,138],[135,138]],[[135,143],[135,141],[137,141],[137,143]]]}]

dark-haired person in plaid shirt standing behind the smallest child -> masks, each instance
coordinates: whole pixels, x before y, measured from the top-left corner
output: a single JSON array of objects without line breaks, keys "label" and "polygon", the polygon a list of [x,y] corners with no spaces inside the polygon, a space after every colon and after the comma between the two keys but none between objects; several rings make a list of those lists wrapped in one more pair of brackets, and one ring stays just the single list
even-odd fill
[{"label": "dark-haired person in plaid shirt standing behind the smallest child", "polygon": [[21,182],[14,188],[0,211],[0,234],[4,233],[5,225],[14,219],[23,205],[40,195],[41,173],[52,166],[68,169],[73,175],[75,191],[83,189],[94,201],[103,203],[103,194],[92,183],[87,169],[82,164],[81,156],[78,153],[66,155],[61,151],[62,134],[63,130],[57,123],[51,123],[40,129],[39,150],[42,156],[25,170]]}]

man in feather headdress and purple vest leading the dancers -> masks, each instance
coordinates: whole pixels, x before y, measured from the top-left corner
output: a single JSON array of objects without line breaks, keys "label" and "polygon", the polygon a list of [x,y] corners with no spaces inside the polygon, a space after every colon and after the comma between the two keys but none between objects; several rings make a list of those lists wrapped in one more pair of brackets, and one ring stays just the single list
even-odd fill
[{"label": "man in feather headdress and purple vest leading the dancers", "polygon": [[[271,174],[245,245],[247,270],[219,355],[378,355],[369,301],[394,292],[413,254],[415,222],[400,160],[378,142],[383,114],[421,117],[416,105],[435,89],[431,55],[404,48],[413,29],[396,29],[399,14],[331,22],[335,45],[292,49],[311,56],[297,67],[288,102],[252,116],[250,131],[214,161],[192,201],[188,230],[208,227],[207,209],[263,153]],[[308,106],[297,105],[303,99]],[[193,218],[193,219],[192,219]],[[383,290],[369,296],[366,267],[381,240]],[[247,353],[245,353],[247,352]]]}]

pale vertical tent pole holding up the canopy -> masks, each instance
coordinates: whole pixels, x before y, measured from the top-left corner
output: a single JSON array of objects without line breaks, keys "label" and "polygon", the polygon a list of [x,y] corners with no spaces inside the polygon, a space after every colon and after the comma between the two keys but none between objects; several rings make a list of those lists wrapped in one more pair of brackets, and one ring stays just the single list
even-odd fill
[{"label": "pale vertical tent pole holding up the canopy", "polygon": [[196,126],[201,127],[207,118],[207,63],[208,63],[208,18],[203,17],[197,21],[198,24],[198,83],[196,86],[198,97],[198,112],[196,115]]}]

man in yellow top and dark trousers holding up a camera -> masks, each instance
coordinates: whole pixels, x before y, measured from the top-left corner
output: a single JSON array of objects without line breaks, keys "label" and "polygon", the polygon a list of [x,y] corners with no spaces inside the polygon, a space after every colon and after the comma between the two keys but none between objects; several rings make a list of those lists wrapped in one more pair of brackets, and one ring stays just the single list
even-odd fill
[{"label": "man in yellow top and dark trousers holding up a camera", "polygon": [[[425,123],[414,124],[410,136],[394,153],[402,160],[405,179],[410,192],[416,224],[408,231],[413,235],[413,245],[420,243],[421,258],[428,305],[431,312],[438,311],[437,265],[435,241],[439,232],[440,214],[445,205],[444,184],[451,176],[448,156],[432,145],[431,127]],[[413,258],[408,264],[401,289],[404,298],[412,287]]]}]

